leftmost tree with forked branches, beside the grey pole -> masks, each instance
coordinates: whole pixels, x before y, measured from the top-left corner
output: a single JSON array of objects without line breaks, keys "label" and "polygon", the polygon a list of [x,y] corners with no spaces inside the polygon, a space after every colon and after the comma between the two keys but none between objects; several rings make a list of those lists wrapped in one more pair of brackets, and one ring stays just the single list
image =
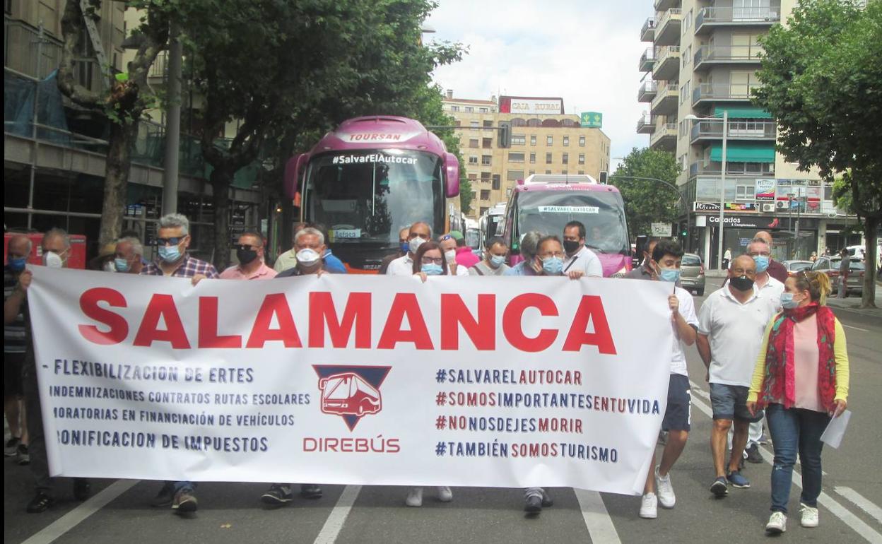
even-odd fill
[{"label": "leftmost tree with forked branches, beside the grey pole", "polygon": [[[138,137],[138,123],[156,96],[147,86],[151,64],[168,44],[168,22],[178,16],[187,3],[163,0],[129,0],[128,5],[143,12],[140,26],[134,30],[139,38],[134,60],[126,71],[108,82],[108,92],[94,93],[79,86],[74,79],[75,63],[85,48],[84,18],[97,21],[101,0],[91,0],[83,13],[78,0],[64,4],[61,28],[64,38],[61,64],[58,67],[58,88],[83,108],[103,112],[110,123],[108,152],[105,160],[104,200],[101,207],[99,242],[103,245],[119,237],[123,229],[126,186],[131,170],[131,149]],[[104,67],[101,67],[104,68]]]}]

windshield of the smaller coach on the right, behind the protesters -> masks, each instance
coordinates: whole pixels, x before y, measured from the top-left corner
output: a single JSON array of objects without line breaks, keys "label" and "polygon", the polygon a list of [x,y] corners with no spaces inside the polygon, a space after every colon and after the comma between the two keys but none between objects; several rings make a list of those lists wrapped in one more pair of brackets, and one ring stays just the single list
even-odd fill
[{"label": "windshield of the smaller coach on the right, behind the protesters", "polygon": [[518,240],[531,230],[564,235],[570,221],[585,225],[585,245],[602,253],[628,255],[622,198],[607,191],[524,191],[518,195]]}]

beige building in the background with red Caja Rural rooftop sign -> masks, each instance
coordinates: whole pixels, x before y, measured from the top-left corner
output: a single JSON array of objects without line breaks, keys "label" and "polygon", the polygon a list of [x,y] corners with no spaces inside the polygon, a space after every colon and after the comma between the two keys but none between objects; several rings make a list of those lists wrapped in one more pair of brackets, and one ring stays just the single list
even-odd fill
[{"label": "beige building in the background with red Caja Rural rooftop sign", "polygon": [[[587,174],[600,179],[601,172],[609,171],[609,137],[601,129],[583,128],[579,116],[565,115],[562,99],[531,98],[525,103],[535,108],[512,108],[505,97],[454,98],[447,91],[444,109],[460,127],[460,166],[472,183],[473,219],[505,202],[512,187],[528,175]],[[553,113],[530,113],[538,111]],[[512,125],[507,149],[497,145],[500,122]]]}]

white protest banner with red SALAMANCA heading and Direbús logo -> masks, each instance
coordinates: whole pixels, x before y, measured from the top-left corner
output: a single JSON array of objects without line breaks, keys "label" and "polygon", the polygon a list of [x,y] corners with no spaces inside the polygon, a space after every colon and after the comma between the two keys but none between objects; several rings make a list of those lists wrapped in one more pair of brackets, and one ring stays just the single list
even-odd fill
[{"label": "white protest banner with red SALAMANCA heading and Direb\u00fas logo", "polygon": [[33,269],[54,475],[643,488],[661,282]]}]

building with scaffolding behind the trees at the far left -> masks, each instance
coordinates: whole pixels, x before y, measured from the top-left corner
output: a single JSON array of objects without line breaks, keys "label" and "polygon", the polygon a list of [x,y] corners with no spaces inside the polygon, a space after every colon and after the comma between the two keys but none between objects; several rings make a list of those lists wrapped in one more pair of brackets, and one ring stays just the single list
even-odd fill
[{"label": "building with scaffolding behind the trees at the far left", "polygon": [[[86,235],[97,250],[108,148],[108,120],[101,112],[79,108],[57,89],[54,73],[61,62],[61,19],[67,0],[7,0],[4,5],[4,224],[7,229],[43,231],[64,227]],[[131,11],[131,10],[130,10]],[[84,34],[74,78],[96,93],[108,89],[104,70],[123,71],[133,54],[126,38],[137,25],[122,2],[103,2],[95,33]],[[128,24],[127,24],[128,23]],[[95,44],[101,46],[104,63]],[[161,86],[164,56],[151,70],[149,83]],[[103,66],[102,66],[103,64]],[[34,97],[40,104],[34,123]],[[154,118],[161,120],[161,115]],[[187,125],[183,125],[186,130]],[[161,213],[164,126],[142,120],[132,150],[124,229],[140,233],[150,257],[154,220]],[[210,257],[213,242],[211,187],[198,142],[182,137],[178,210],[190,216],[195,245]],[[253,179],[253,176],[252,176]],[[234,224],[243,210],[253,218],[258,190],[236,187]],[[249,224],[256,220],[249,219]]]}]

